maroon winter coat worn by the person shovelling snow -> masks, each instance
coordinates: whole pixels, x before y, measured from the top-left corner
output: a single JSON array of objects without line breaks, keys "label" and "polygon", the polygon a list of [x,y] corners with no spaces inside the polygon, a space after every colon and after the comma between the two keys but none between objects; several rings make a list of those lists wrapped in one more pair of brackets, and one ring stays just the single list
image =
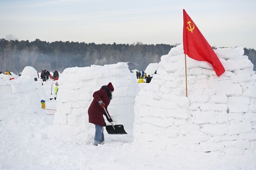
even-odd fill
[{"label": "maroon winter coat worn by the person shovelling snow", "polygon": [[99,106],[98,102],[103,101],[103,103],[105,103],[105,108],[108,112],[108,105],[110,103],[108,93],[106,90],[101,88],[100,90],[94,92],[93,97],[94,100],[88,108],[89,122],[100,126],[106,126],[103,118],[103,114],[105,114],[106,116],[106,113],[104,109]]}]

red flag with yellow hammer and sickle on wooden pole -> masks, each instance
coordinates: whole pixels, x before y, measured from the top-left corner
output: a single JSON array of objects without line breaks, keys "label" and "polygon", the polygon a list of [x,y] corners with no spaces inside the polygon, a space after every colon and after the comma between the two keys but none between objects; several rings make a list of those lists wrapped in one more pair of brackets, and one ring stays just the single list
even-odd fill
[{"label": "red flag with yellow hammer and sickle on wooden pole", "polygon": [[211,63],[216,75],[221,76],[225,72],[221,61],[184,9],[183,22],[184,54],[197,61]]}]

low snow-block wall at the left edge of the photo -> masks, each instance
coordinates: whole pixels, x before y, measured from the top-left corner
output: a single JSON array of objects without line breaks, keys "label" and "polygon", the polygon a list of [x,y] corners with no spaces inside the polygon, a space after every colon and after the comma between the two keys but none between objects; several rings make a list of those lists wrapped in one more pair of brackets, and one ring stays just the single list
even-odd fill
[{"label": "low snow-block wall at the left edge of the photo", "polygon": [[0,74],[0,120],[7,120],[21,113],[39,112],[41,104],[36,89],[38,82],[30,78],[9,78],[8,75]]}]

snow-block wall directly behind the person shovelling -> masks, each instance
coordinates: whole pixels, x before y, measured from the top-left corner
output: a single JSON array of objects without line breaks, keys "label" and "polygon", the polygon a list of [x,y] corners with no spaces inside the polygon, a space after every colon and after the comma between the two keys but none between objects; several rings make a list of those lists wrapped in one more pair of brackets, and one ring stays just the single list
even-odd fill
[{"label": "snow-block wall directly behind the person shovelling", "polygon": [[[68,130],[71,131],[68,134],[71,136],[81,132],[94,134],[94,125],[88,123],[88,107],[93,100],[94,91],[107,85],[108,82],[112,82],[115,88],[113,99],[108,106],[113,123],[124,125],[131,133],[135,96],[139,88],[127,63],[65,69],[59,78],[54,125],[43,132],[50,129],[50,132],[47,132],[49,136],[56,135],[55,132],[63,132],[65,135]],[[105,122],[108,124],[107,120]]]}]

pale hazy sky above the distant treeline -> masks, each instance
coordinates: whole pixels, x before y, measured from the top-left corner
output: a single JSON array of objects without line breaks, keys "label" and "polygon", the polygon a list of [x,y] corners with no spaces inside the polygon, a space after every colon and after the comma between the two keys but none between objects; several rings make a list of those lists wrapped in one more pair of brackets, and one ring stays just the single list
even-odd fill
[{"label": "pale hazy sky above the distant treeline", "polygon": [[0,0],[0,38],[182,43],[183,8],[210,45],[256,49],[256,0]]}]

